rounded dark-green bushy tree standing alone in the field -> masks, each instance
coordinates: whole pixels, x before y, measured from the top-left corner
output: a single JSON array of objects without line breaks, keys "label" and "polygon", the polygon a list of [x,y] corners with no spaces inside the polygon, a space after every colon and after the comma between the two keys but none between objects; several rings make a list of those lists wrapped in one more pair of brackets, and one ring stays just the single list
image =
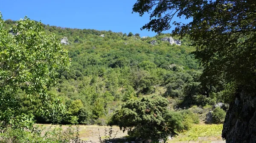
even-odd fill
[{"label": "rounded dark-green bushy tree standing alone in the field", "polygon": [[166,98],[155,95],[127,101],[114,113],[109,124],[128,130],[130,136],[153,142],[166,140],[169,134],[177,134],[177,130],[183,129],[182,116],[168,112],[167,105]]}]

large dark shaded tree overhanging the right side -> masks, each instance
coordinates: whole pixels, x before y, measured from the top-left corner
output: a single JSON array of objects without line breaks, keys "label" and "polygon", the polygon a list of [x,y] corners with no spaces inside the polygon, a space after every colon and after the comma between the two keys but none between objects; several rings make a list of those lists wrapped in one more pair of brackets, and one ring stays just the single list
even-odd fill
[{"label": "large dark shaded tree overhanging the right side", "polygon": [[[256,93],[255,8],[255,0],[137,0],[133,7],[133,12],[140,16],[150,13],[150,22],[141,29],[158,33],[169,30],[175,16],[192,19],[187,24],[172,22],[175,25],[173,35],[188,36],[194,41],[195,57],[204,67],[201,76],[204,85],[231,83],[237,87],[236,98],[241,101],[235,106],[233,96],[230,113],[226,116],[222,137],[227,143],[254,142],[252,129],[255,127],[234,127],[232,123],[248,125],[248,119],[255,121],[253,113],[244,113],[244,110],[255,109],[254,105],[247,104],[253,98],[248,96]],[[242,106],[245,109],[238,108]],[[235,132],[240,130],[236,128],[243,130]]]}]

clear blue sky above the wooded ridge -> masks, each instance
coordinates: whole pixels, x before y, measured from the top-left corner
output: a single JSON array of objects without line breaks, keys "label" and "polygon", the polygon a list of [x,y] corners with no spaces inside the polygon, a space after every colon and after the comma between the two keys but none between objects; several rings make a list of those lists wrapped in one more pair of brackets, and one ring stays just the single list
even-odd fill
[{"label": "clear blue sky above the wooded ridge", "polygon": [[[111,30],[140,36],[155,36],[140,28],[149,15],[132,12],[137,0],[0,0],[3,19],[19,20],[28,16],[44,24],[67,28]],[[178,21],[178,19],[176,19]],[[184,20],[183,20],[184,21]],[[171,32],[171,30],[166,31]]]}]

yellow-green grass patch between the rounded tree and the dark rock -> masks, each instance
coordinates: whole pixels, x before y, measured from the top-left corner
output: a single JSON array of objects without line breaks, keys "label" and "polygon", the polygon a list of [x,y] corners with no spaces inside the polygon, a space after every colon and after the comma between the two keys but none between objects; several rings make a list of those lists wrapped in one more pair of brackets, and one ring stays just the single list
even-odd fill
[{"label": "yellow-green grass patch between the rounded tree and the dark rock", "polygon": [[183,132],[168,143],[225,143],[221,139],[222,124],[194,124],[188,132]]}]

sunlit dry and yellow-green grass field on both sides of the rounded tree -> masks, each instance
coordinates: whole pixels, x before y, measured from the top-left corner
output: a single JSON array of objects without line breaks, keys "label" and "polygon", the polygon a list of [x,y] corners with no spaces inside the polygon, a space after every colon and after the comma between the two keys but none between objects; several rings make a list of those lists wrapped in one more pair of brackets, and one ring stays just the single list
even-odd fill
[{"label": "sunlit dry and yellow-green grass field on both sides of the rounded tree", "polygon": [[[56,125],[51,126],[49,124],[44,124],[42,126],[49,130],[49,127],[54,129]],[[67,125],[62,126],[63,129],[67,129],[67,127]],[[225,141],[221,139],[222,127],[222,124],[194,124],[189,131],[180,133],[180,135],[174,137],[172,140],[168,140],[168,143],[225,143]],[[76,128],[76,126],[73,126],[73,128]],[[109,128],[110,126],[79,125],[79,135],[82,140],[91,140],[93,142],[99,143],[99,134],[102,139],[108,138],[108,136],[105,136],[105,129],[108,130]],[[115,138],[128,136],[127,132],[120,131],[118,126],[113,126],[113,135],[115,134]]]}]

